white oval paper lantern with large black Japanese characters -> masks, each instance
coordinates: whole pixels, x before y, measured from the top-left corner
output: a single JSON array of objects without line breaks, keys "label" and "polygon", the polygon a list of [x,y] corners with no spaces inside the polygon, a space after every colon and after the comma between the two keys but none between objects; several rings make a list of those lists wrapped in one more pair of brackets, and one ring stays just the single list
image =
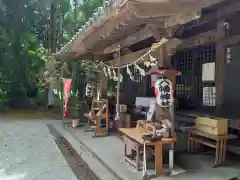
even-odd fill
[{"label": "white oval paper lantern with large black Japanese characters", "polygon": [[167,78],[158,79],[154,85],[156,102],[159,106],[167,108],[173,102],[173,88],[171,80]]}]

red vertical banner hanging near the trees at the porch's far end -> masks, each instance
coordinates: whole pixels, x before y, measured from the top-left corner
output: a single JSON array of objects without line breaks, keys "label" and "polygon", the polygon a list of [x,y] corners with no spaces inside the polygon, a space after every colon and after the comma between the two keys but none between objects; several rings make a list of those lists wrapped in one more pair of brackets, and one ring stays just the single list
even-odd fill
[{"label": "red vertical banner hanging near the trees at the porch's far end", "polygon": [[64,117],[67,116],[67,113],[68,113],[67,105],[68,105],[68,98],[69,98],[71,88],[72,88],[72,80],[71,79],[63,79],[63,89],[64,89],[63,115],[64,115]]}]

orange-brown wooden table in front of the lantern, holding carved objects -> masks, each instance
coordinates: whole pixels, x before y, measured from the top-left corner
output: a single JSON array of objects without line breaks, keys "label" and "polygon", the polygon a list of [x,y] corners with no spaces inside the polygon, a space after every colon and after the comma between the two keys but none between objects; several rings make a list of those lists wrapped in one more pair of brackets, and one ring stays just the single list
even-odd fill
[{"label": "orange-brown wooden table in front of the lantern, holding carved objects", "polygon": [[[123,136],[131,139],[132,141],[143,145],[144,141],[142,139],[143,135],[148,135],[149,133],[144,131],[144,129],[140,128],[120,128],[119,131],[123,133]],[[166,172],[166,170],[163,169],[163,144],[170,144],[175,143],[176,138],[163,138],[159,141],[154,142],[146,142],[147,146],[154,146],[155,147],[155,173],[156,175],[161,175]],[[125,144],[125,148],[127,145]]]}]

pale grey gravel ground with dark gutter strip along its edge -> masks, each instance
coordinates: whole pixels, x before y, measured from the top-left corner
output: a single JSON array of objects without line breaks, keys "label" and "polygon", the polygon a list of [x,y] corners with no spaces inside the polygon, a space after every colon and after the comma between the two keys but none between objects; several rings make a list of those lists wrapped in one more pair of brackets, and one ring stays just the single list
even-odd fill
[{"label": "pale grey gravel ground with dark gutter strip along its edge", "polygon": [[67,141],[59,140],[44,121],[0,120],[0,180],[78,180],[84,179],[81,173],[85,180],[97,179],[74,158]]}]

